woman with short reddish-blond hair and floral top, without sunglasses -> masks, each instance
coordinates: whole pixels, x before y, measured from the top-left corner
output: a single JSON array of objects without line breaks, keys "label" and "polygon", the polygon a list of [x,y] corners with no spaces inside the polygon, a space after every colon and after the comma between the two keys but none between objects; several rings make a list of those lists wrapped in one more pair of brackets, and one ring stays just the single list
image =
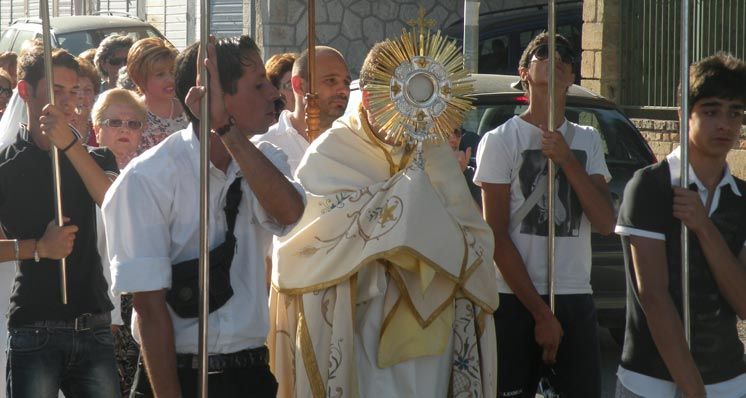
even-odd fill
[{"label": "woman with short reddish-blond hair and floral top, without sunglasses", "polygon": [[127,74],[142,94],[148,112],[148,127],[143,132],[138,153],[189,125],[174,95],[175,60],[176,49],[155,37],[138,40],[127,56]]}]

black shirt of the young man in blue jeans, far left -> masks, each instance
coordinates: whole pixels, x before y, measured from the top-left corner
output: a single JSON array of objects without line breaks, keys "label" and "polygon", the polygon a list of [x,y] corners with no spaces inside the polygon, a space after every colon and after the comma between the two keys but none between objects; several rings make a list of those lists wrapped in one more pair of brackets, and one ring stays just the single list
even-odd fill
[{"label": "black shirt of the young man in blue jeans, far left", "polygon": [[[87,148],[107,173],[118,173],[114,155]],[[71,320],[85,313],[111,311],[108,284],[96,245],[96,203],[67,157],[60,153],[63,214],[78,227],[67,257],[67,298],[62,304],[60,262],[21,261],[10,296],[9,325],[39,320]],[[39,239],[55,217],[51,153],[39,149],[25,128],[0,152],[0,223],[9,239]]]}]

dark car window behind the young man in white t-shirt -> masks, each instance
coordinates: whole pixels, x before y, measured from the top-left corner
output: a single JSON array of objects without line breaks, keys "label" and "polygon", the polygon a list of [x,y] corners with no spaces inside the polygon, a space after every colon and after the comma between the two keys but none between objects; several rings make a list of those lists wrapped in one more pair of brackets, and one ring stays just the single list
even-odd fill
[{"label": "dark car window behind the young man in white t-shirt", "polygon": [[[465,131],[480,137],[494,130],[513,116],[523,113],[525,104],[477,105],[466,115]],[[642,167],[649,163],[646,148],[640,144],[634,126],[615,109],[591,106],[567,106],[565,117],[571,122],[593,126],[601,133],[607,164],[628,164]]]}]

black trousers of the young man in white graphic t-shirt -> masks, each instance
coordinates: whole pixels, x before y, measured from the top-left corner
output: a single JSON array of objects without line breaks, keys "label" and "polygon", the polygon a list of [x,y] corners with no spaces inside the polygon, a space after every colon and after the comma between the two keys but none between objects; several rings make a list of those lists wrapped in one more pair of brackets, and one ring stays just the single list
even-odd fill
[{"label": "black trousers of the young man in white graphic t-shirt", "polygon": [[[543,298],[548,300],[547,296]],[[533,398],[542,377],[560,397],[601,397],[601,353],[593,298],[590,294],[568,294],[555,299],[555,313],[564,335],[557,362],[549,368],[534,339],[533,317],[515,295],[500,294],[500,306],[494,314],[498,397]]]}]

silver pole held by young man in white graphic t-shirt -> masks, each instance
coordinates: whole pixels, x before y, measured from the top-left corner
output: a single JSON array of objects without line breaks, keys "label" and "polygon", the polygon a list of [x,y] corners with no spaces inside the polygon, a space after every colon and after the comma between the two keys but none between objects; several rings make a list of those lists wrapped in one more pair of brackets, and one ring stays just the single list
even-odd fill
[{"label": "silver pole held by young man in white graphic t-shirt", "polygon": [[[555,54],[557,53],[557,26],[555,13],[555,0],[549,1],[549,121],[547,129],[553,131],[556,125],[555,107]],[[549,280],[549,307],[554,312],[554,175],[556,173],[554,162],[547,159],[547,279]]]}]

